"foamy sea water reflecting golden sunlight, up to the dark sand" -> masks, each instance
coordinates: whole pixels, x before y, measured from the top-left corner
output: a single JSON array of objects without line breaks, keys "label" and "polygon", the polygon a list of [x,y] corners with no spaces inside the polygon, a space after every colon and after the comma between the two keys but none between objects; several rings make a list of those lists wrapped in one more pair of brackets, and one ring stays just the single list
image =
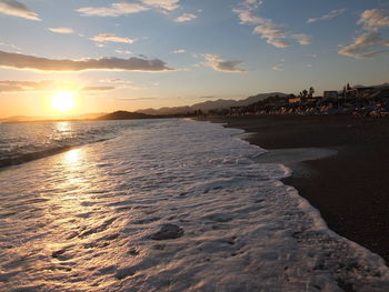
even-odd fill
[{"label": "foamy sea water reflecting golden sunlight, up to the dark sand", "polygon": [[0,291],[388,291],[383,260],[328,230],[240,130],[1,127],[18,165],[0,171]]}]

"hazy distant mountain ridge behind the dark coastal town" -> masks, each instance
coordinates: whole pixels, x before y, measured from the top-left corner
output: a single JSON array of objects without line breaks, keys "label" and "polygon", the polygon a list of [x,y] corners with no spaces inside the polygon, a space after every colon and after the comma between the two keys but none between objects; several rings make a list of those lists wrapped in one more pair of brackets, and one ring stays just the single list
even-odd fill
[{"label": "hazy distant mountain ridge behind the dark coastal town", "polygon": [[223,99],[208,100],[205,102],[196,103],[193,105],[160,108],[160,109],[144,109],[144,110],[138,110],[137,112],[147,113],[147,114],[177,114],[177,113],[193,112],[196,110],[208,112],[209,110],[229,109],[230,107],[246,107],[251,103],[255,103],[260,100],[265,100],[269,97],[275,97],[275,95],[286,97],[288,94],[281,93],[281,92],[260,93],[243,100],[223,100]]}]

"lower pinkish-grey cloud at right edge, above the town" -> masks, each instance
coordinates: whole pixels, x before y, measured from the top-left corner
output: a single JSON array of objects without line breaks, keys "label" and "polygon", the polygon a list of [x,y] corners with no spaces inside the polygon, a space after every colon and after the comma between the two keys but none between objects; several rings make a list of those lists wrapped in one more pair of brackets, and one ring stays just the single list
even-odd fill
[{"label": "lower pinkish-grey cloud at right edge, above the town", "polygon": [[379,32],[367,32],[355,39],[353,43],[342,48],[338,53],[356,59],[365,59],[385,52],[380,46],[389,47]]}]

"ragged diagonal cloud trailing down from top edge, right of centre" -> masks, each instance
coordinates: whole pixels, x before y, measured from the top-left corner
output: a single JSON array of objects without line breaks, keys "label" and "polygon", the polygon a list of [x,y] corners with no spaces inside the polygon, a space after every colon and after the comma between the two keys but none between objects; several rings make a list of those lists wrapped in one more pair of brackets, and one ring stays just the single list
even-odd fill
[{"label": "ragged diagonal cloud trailing down from top edge, right of centre", "polygon": [[253,33],[259,34],[267,43],[276,48],[287,48],[290,40],[297,41],[299,44],[309,44],[310,37],[305,33],[291,33],[285,26],[275,23],[271,19],[262,18],[253,14],[255,10],[260,7],[262,1],[246,0],[241,3],[241,8],[232,11],[238,14],[241,24],[255,24]]}]

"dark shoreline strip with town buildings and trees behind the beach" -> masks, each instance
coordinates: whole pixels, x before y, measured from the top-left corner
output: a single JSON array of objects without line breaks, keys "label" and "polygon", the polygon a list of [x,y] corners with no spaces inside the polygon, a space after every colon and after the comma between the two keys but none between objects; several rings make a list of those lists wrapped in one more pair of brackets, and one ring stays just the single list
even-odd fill
[{"label": "dark shoreline strip with town buildings and trees behind the beach", "polygon": [[[203,114],[198,112],[197,114]],[[327,90],[322,95],[315,95],[315,89],[302,90],[296,94],[277,94],[246,107],[216,109],[209,115],[261,115],[299,114],[335,115],[351,114],[357,117],[389,117],[389,83],[373,87],[350,87],[342,90]]]}]

